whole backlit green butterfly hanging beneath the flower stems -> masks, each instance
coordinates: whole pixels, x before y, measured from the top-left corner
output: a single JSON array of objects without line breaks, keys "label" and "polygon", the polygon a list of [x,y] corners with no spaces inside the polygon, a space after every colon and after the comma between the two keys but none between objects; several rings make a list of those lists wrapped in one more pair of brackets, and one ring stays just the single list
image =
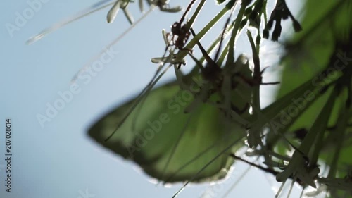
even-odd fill
[{"label": "whole backlit green butterfly hanging beneath the flower stems", "polygon": [[244,146],[251,89],[243,79],[252,72],[244,55],[221,68],[218,55],[213,60],[197,45],[205,67],[198,61],[196,72],[179,73],[147,97],[113,109],[89,128],[89,137],[163,182],[225,178],[234,163],[230,154]]}]

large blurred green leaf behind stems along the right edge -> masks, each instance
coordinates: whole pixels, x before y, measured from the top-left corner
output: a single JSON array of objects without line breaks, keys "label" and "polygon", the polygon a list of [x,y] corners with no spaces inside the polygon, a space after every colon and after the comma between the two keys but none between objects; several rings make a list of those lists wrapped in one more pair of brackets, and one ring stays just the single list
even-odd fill
[{"label": "large blurred green leaf behind stems along the right edge", "polygon": [[[348,120],[351,124],[352,2],[312,0],[306,2],[305,8],[306,16],[301,23],[303,31],[286,44],[282,86],[277,97],[284,98],[307,80],[313,87],[306,92],[318,89],[321,94],[315,94],[319,98],[309,107],[306,94],[292,98],[289,106],[298,113],[289,116],[292,123],[286,124],[288,128],[281,132],[290,142],[298,144],[295,153],[306,155],[307,167],[318,163],[330,168],[329,174],[320,175],[318,181],[327,183],[331,196],[335,197],[334,194],[341,194],[337,190],[346,190],[352,183],[348,176],[352,168],[352,144],[347,138],[351,137]],[[293,132],[302,129],[308,134],[297,141]],[[282,144],[287,140],[279,137],[275,142],[275,135],[270,135],[267,139],[270,144],[276,143],[275,149],[287,154],[289,149]],[[346,182],[341,183],[345,177]]]}]

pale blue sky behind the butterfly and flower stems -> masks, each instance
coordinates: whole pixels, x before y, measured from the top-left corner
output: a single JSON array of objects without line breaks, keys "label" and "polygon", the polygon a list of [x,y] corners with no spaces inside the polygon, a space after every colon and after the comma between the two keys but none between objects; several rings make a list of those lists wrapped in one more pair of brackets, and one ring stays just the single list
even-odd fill
[{"label": "pale blue sky behind the butterfly and flower stems", "polygon": [[[28,2],[6,1],[0,8],[0,122],[11,118],[13,154],[11,193],[8,193],[3,179],[5,146],[0,144],[0,197],[76,198],[84,194],[87,197],[86,193],[96,198],[172,197],[180,185],[156,186],[137,165],[106,151],[86,134],[94,120],[136,95],[151,79],[156,65],[150,59],[161,56],[165,49],[161,30],[179,20],[180,13],[153,11],[112,47],[116,52],[101,70],[90,75],[89,80],[77,80],[72,87],[70,81],[75,73],[126,30],[129,23],[121,12],[114,23],[107,24],[106,8],[26,45],[28,38],[44,28],[96,3],[94,0],[39,1],[41,7],[9,32],[8,24],[15,25],[18,15],[31,14]],[[170,4],[177,6],[178,2]],[[187,2],[180,1],[180,5],[186,6]],[[206,3],[195,30],[201,30],[222,8],[214,4],[214,1]],[[137,4],[130,8],[134,18],[141,16]],[[209,43],[217,34],[213,31],[203,42]],[[239,42],[245,43],[240,39]],[[170,71],[161,83],[173,77]],[[58,100],[68,92],[73,94],[60,104]],[[272,92],[267,97],[270,95]],[[39,122],[38,115],[46,115],[54,105],[62,109],[51,112],[49,120]],[[0,142],[4,142],[4,124],[1,125]],[[201,197],[205,190],[221,197],[245,168],[246,165],[237,163],[229,180],[220,185],[189,185],[180,197]],[[274,197],[272,187],[277,185],[274,178],[252,168],[229,197]]]}]

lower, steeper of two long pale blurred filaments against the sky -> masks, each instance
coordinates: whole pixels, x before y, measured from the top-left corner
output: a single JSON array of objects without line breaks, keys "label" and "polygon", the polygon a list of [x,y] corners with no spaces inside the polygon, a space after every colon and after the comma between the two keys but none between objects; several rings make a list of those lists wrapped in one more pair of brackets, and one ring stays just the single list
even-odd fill
[{"label": "lower, steeper of two long pale blurred filaments against the sky", "polygon": [[125,30],[125,32],[122,32],[122,34],[120,36],[118,36],[116,39],[114,39],[110,44],[108,44],[106,47],[104,47],[103,50],[101,50],[101,52],[99,54],[97,54],[96,56],[94,56],[91,61],[89,61],[85,66],[83,66],[74,76],[73,79],[71,80],[71,82],[76,82],[78,76],[84,72],[84,70],[86,70],[87,68],[89,68],[92,63],[94,61],[96,61],[97,59],[99,59],[101,57],[102,54],[106,53],[106,49],[111,48],[113,45],[115,45],[116,43],[118,43],[120,41],[120,39],[122,39],[123,37],[125,37],[125,35],[127,35],[128,32],[130,32],[136,25],[138,25],[144,18],[146,18],[146,16],[149,15],[149,13],[151,13],[153,11],[153,9],[155,8],[155,6],[151,5],[151,8],[149,8],[149,11],[147,11],[146,13],[144,13],[144,15],[139,18],[135,23],[133,23],[132,25],[130,25],[130,27],[127,28],[127,30]]}]

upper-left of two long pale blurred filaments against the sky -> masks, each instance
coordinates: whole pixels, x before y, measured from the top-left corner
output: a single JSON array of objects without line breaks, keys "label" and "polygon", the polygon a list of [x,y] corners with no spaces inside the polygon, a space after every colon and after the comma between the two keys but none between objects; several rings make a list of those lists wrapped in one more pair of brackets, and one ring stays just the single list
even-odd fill
[{"label": "upper-left of two long pale blurred filaments against the sky", "polygon": [[[94,4],[93,6],[90,6],[87,9],[84,9],[83,11],[80,11],[78,14],[75,16],[72,16],[68,18],[68,20],[64,20],[63,22],[56,23],[52,25],[49,28],[46,28],[45,30],[42,30],[42,32],[39,32],[39,34],[34,35],[33,37],[30,37],[30,39],[27,40],[26,44],[30,45],[33,44],[34,42],[39,41],[39,39],[42,39],[44,36],[49,35],[51,32],[54,32],[61,27],[68,25],[69,23],[73,23],[75,20],[79,20],[80,18],[83,18],[84,16],[88,16],[91,13],[95,13],[96,11],[100,11],[103,8],[106,8],[108,6],[111,6],[114,4],[114,2],[111,2],[109,4],[105,4],[106,2],[111,1],[111,0],[103,0],[99,1],[98,3]],[[105,4],[105,5],[103,5]]]}]

